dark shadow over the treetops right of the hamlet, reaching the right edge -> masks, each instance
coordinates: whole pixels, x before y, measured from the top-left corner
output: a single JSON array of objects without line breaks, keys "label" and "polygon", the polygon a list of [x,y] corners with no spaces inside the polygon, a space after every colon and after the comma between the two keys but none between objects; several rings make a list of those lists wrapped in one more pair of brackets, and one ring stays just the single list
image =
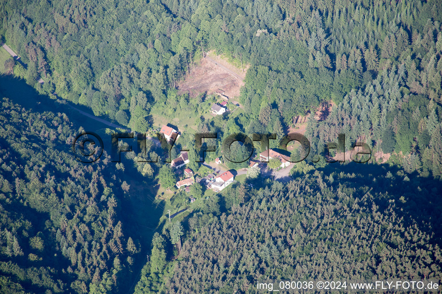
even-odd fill
[{"label": "dark shadow over the treetops right of the hamlet, reaching the right edge", "polygon": [[[442,243],[442,189],[438,179],[421,177],[416,171],[407,174],[402,168],[389,164],[332,163],[319,170],[324,172],[324,182],[335,189],[339,188],[340,175],[354,173],[354,178],[345,177],[343,180],[353,182],[354,187],[366,186],[366,193],[373,195],[374,202],[379,206],[377,211],[383,212],[394,201],[396,207],[400,208],[396,209],[396,215],[404,217],[407,227],[414,220],[421,231],[430,235],[434,233],[433,240],[439,245]],[[391,173],[389,178],[388,172]],[[330,180],[329,175],[333,179]],[[295,179],[305,176],[293,175]]]}]

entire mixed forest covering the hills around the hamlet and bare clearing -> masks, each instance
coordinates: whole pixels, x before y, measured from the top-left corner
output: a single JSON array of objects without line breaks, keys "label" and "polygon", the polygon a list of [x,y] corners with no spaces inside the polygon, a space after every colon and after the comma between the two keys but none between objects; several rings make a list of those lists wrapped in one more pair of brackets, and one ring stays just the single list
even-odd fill
[{"label": "entire mixed forest covering the hills around the hamlet and bare clearing", "polygon": [[[0,64],[1,294],[442,279],[440,1],[0,0],[0,19],[0,43],[20,56]],[[214,95],[179,91],[207,52],[247,70],[238,111],[205,116]],[[27,106],[25,83],[47,108]],[[121,163],[105,151],[83,164],[71,146],[90,122],[58,105],[138,133],[158,118],[187,124],[170,155],[148,141]],[[249,170],[220,194],[199,183],[185,192],[162,161],[193,146],[195,131],[218,134],[209,162],[230,134],[281,139],[302,124],[311,154],[285,181]],[[339,133],[346,150],[366,142],[369,162],[327,164]],[[189,159],[198,175],[211,172],[195,150]],[[158,186],[173,196],[156,197]],[[201,202],[169,223],[168,209],[188,208],[189,195]]]}]

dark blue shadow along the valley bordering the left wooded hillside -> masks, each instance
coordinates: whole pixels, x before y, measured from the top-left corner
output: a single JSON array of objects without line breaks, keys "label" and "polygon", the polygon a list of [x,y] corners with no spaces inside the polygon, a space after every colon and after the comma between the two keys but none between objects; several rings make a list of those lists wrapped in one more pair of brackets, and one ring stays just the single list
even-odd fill
[{"label": "dark blue shadow along the valley bordering the left wooded hillside", "polygon": [[[46,95],[39,94],[32,86],[27,85],[23,79],[11,75],[0,75],[0,96],[7,97],[13,103],[21,105],[26,110],[32,110],[32,112],[65,113],[69,120],[74,123],[74,129],[78,130],[82,126],[85,130],[98,131],[100,135],[105,136],[103,137],[103,143],[108,142],[104,144],[105,149],[107,150],[107,146],[110,146],[110,135],[105,134],[104,128],[112,129],[111,127],[80,114],[80,112],[70,108],[68,104],[59,103]],[[75,107],[91,113],[89,108],[79,105],[75,105]],[[72,153],[71,145],[66,144],[65,147],[60,147],[61,149],[65,148],[68,154]],[[128,289],[133,289],[140,279],[141,269],[147,261],[147,252],[150,251],[153,234],[155,231],[162,231],[164,222],[159,223],[159,220],[164,214],[165,203],[155,199],[159,185],[152,181],[146,182],[146,178],[137,171],[132,160],[126,159],[125,156],[121,156],[121,158],[124,171],[117,169],[116,163],[109,163],[107,168],[103,169],[103,174],[107,178],[115,175],[117,182],[126,181],[130,184],[129,194],[116,195],[119,199],[119,205],[121,205],[121,212],[118,217],[119,220],[122,220],[124,234],[126,238],[132,237],[135,242],[138,239],[141,245],[141,253],[138,253],[138,258],[134,258],[133,273],[125,279],[126,283],[121,287],[121,289],[125,289],[122,292],[126,292]],[[25,209],[24,212],[30,219],[35,219],[35,223],[38,223],[37,219],[48,219],[46,212],[37,212],[35,209],[26,206],[23,209]],[[40,228],[40,231],[45,230]],[[51,254],[48,256],[51,256]],[[65,262],[60,258],[46,259],[46,261],[50,262],[51,267],[54,264]]]}]

